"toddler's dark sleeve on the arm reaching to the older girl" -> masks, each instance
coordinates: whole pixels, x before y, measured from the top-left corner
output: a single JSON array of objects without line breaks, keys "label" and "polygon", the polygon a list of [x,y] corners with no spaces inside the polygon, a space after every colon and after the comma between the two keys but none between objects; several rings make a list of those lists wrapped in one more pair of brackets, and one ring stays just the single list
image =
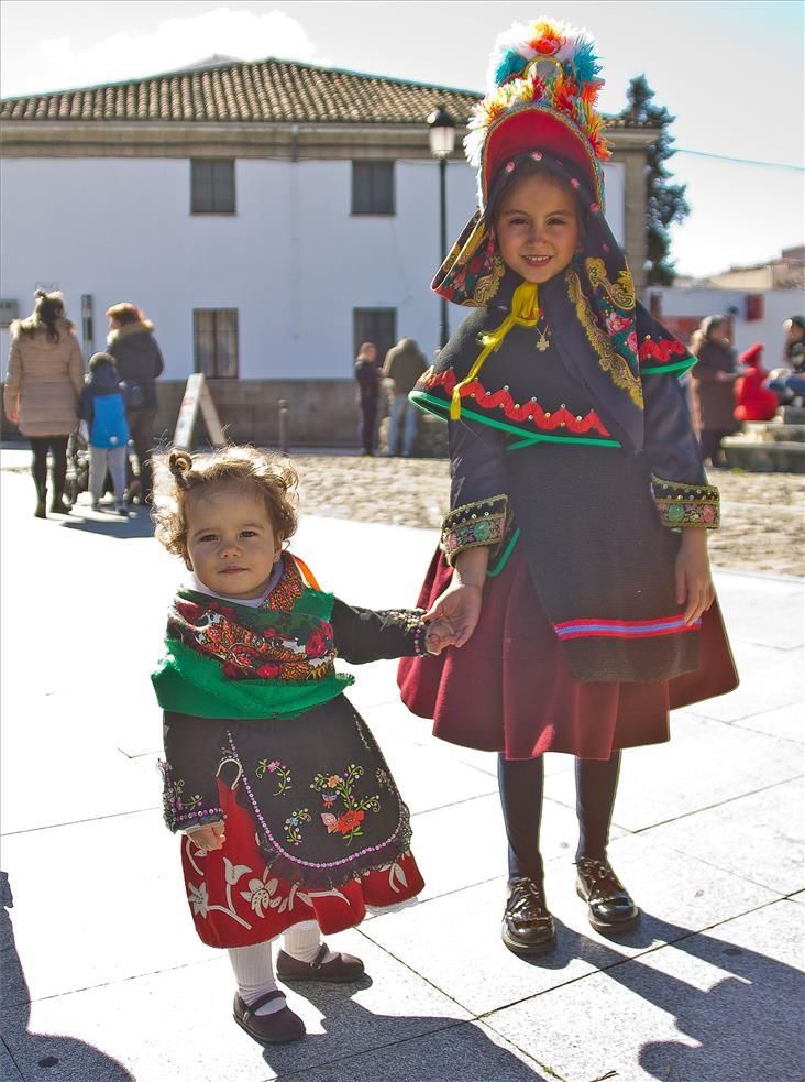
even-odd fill
[{"label": "toddler's dark sleeve on the arm reaching to the older girl", "polygon": [[359,609],[337,598],[332,606],[339,657],[352,665],[424,654],[421,609]]}]

